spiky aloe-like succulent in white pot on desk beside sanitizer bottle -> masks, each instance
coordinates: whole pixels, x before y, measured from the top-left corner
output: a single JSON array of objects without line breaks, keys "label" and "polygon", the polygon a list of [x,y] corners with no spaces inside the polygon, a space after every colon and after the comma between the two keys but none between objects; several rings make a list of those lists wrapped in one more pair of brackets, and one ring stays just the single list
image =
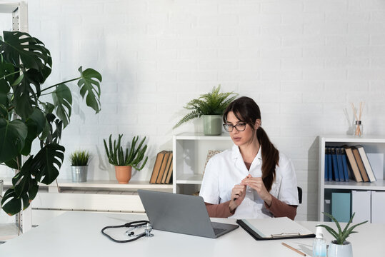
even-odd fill
[{"label": "spiky aloe-like succulent in white pot on desk beside sanitizer bottle", "polygon": [[351,224],[351,221],[353,221],[354,215],[356,213],[353,213],[351,216],[349,222],[346,224],[344,230],[341,229],[341,226],[339,225],[339,222],[329,213],[324,213],[325,216],[331,218],[332,221],[336,223],[336,227],[338,231],[335,231],[333,228],[326,226],[326,225],[317,225],[321,226],[323,228],[326,228],[326,231],[331,233],[331,236],[334,236],[336,238],[335,240],[331,241],[329,248],[328,248],[328,256],[329,257],[348,257],[353,256],[353,251],[351,248],[351,243],[349,241],[346,241],[346,238],[351,233],[357,233],[357,231],[353,231],[354,228],[357,226],[360,226],[368,221],[364,221],[358,224],[355,224],[349,228],[349,225]]}]

